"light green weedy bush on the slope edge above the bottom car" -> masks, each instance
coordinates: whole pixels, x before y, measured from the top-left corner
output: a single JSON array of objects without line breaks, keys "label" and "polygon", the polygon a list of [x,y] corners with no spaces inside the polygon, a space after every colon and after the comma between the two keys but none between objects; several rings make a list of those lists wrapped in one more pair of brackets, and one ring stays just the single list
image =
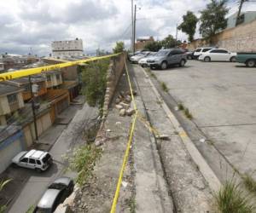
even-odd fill
[{"label": "light green weedy bush on the slope edge above the bottom car", "polygon": [[90,176],[96,161],[102,156],[102,148],[94,144],[86,144],[74,150],[73,156],[69,158],[69,168],[78,172],[77,183],[82,186]]}]

